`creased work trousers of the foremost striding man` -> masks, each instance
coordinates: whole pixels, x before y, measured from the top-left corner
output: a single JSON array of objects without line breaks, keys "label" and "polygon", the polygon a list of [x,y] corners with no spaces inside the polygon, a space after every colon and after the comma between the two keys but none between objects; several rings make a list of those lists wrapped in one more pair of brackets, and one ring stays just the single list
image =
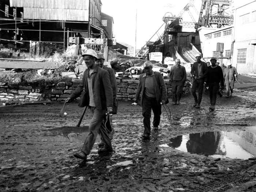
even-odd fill
[{"label": "creased work trousers of the foremost striding man", "polygon": [[102,143],[107,147],[107,148],[112,148],[111,141],[109,139],[109,135],[107,132],[107,129],[105,126],[103,126],[102,121],[104,121],[104,117],[106,110],[98,110],[95,107],[91,107],[91,122],[89,125],[89,133],[86,136],[86,139],[84,141],[82,151],[85,154],[89,154],[91,149],[93,148],[93,145],[95,143],[96,137],[99,133],[101,136]]}]

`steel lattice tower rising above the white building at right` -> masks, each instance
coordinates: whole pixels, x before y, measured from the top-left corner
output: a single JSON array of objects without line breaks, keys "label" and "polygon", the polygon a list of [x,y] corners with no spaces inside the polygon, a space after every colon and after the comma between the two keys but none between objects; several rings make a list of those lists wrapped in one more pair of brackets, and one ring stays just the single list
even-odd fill
[{"label": "steel lattice tower rising above the white building at right", "polygon": [[232,0],[202,0],[198,27],[221,28],[233,24],[233,14],[226,10],[231,7]]}]

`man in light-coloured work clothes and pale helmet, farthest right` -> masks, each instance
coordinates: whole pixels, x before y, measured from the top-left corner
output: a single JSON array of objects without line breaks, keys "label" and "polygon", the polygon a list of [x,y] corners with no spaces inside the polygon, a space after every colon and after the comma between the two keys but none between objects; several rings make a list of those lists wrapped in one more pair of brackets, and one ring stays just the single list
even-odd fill
[{"label": "man in light-coloured work clothes and pale helmet, farthest right", "polygon": [[234,83],[237,81],[238,74],[236,67],[232,67],[230,61],[227,62],[227,68],[224,70],[224,79],[226,84],[226,97],[229,98],[233,94]]}]

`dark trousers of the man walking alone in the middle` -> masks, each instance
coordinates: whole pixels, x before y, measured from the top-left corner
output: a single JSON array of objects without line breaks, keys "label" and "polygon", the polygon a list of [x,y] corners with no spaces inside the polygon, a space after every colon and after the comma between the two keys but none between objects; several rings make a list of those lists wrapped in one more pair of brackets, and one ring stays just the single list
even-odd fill
[{"label": "dark trousers of the man walking alone in the middle", "polygon": [[158,127],[160,123],[161,104],[157,102],[156,98],[149,98],[144,96],[142,102],[142,115],[144,117],[144,134],[150,134],[150,117],[151,109],[154,113],[153,126]]}]

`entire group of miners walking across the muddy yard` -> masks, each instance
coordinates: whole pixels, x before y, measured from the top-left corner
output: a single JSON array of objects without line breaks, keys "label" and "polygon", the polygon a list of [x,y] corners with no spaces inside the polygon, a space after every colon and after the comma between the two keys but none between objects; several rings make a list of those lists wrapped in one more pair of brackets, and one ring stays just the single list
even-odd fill
[{"label": "entire group of miners walking across the muddy yard", "polygon": [[[82,55],[87,69],[84,71],[83,79],[73,94],[66,99],[66,102],[71,102],[79,97],[84,92],[83,103],[90,109],[91,121],[89,124],[89,133],[86,136],[82,150],[74,154],[74,157],[79,159],[87,159],[97,134],[101,136],[101,143],[99,143],[99,154],[106,154],[113,151],[111,139],[113,138],[114,130],[110,129],[106,124],[106,114],[117,113],[117,82],[115,72],[112,68],[103,65],[105,59],[102,54],[97,54],[93,49],[87,49]],[[201,55],[196,56],[196,62],[191,67],[191,75],[193,78],[192,94],[195,99],[194,106],[200,108],[202,101],[203,85],[207,79],[210,92],[211,108],[214,109],[216,102],[216,95],[219,89],[224,89],[223,73],[221,67],[216,65],[217,59],[211,59],[211,66],[201,61]],[[173,90],[173,104],[180,104],[182,89],[187,79],[185,67],[180,65],[180,60],[176,59],[176,65],[170,70],[170,82]],[[158,130],[161,117],[161,105],[167,104],[167,90],[166,84],[160,72],[153,71],[153,64],[146,61],[143,64],[145,73],[139,77],[139,85],[135,95],[135,102],[138,103],[139,97],[140,105],[142,106],[144,133],[143,139],[150,139],[151,127],[150,118],[151,110],[153,110],[153,129]],[[226,85],[229,85],[232,90],[233,72],[236,69],[228,67],[225,69],[227,77]],[[198,97],[196,90],[198,89]],[[228,89],[228,88],[227,88]],[[232,93],[232,91],[231,91]]]}]

